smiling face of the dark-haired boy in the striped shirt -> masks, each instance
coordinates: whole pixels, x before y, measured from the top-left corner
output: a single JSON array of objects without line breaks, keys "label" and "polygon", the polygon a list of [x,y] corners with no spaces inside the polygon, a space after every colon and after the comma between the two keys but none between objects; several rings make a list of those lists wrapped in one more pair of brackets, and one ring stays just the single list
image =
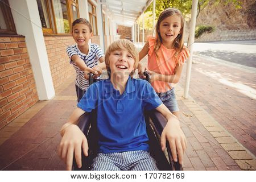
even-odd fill
[{"label": "smiling face of the dark-haired boy in the striped shirt", "polygon": [[72,28],[72,36],[78,46],[87,46],[93,33],[90,32],[90,28],[83,23],[77,23]]}]

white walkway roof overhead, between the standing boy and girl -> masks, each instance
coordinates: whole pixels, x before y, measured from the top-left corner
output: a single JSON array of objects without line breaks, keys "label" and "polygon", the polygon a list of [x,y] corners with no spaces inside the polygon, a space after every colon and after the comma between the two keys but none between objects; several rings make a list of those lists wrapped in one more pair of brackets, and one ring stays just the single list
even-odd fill
[{"label": "white walkway roof overhead, between the standing boy and girl", "polygon": [[152,0],[102,0],[102,9],[112,15],[117,24],[131,27]]}]

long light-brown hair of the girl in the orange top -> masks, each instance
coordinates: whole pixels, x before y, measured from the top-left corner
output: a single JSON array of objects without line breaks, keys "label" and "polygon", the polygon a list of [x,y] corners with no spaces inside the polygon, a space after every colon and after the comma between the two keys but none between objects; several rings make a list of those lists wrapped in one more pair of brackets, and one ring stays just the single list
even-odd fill
[{"label": "long light-brown hair of the girl in the orange top", "polygon": [[162,37],[161,37],[160,32],[159,32],[160,23],[164,19],[166,19],[168,16],[172,16],[174,14],[180,16],[180,20],[181,20],[180,34],[174,40],[174,45],[173,45],[174,49],[176,50],[175,57],[177,57],[177,55],[179,55],[179,53],[183,49],[183,46],[184,46],[184,36],[183,36],[183,33],[184,33],[184,19],[183,19],[183,16],[182,16],[182,14],[179,10],[174,9],[174,8],[167,8],[167,9],[163,10],[163,12],[160,14],[160,16],[158,18],[158,22],[156,23],[156,26],[155,26],[156,40],[155,40],[154,52],[155,52],[156,57],[158,57],[158,51],[159,51],[160,46],[162,44]]}]

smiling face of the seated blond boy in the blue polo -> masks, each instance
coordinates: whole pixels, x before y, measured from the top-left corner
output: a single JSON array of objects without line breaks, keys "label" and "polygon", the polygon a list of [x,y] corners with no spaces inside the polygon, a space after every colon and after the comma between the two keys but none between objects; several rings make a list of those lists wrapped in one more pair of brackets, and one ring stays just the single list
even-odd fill
[{"label": "smiling face of the seated blond boy in the blue polo", "polygon": [[109,55],[109,67],[111,70],[111,77],[121,76],[128,77],[134,70],[135,60],[133,55],[126,49],[117,49]]}]

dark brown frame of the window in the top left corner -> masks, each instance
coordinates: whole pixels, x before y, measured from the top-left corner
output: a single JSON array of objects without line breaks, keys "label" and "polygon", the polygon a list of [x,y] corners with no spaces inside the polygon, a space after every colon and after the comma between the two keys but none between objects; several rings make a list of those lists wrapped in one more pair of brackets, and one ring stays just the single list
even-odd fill
[{"label": "dark brown frame of the window in the top left corner", "polygon": [[10,35],[17,34],[16,27],[13,19],[13,14],[11,14],[11,8],[8,0],[1,0],[3,6],[1,6],[1,10],[3,13],[3,18],[5,19],[6,26],[10,29],[0,29],[0,35]]}]

